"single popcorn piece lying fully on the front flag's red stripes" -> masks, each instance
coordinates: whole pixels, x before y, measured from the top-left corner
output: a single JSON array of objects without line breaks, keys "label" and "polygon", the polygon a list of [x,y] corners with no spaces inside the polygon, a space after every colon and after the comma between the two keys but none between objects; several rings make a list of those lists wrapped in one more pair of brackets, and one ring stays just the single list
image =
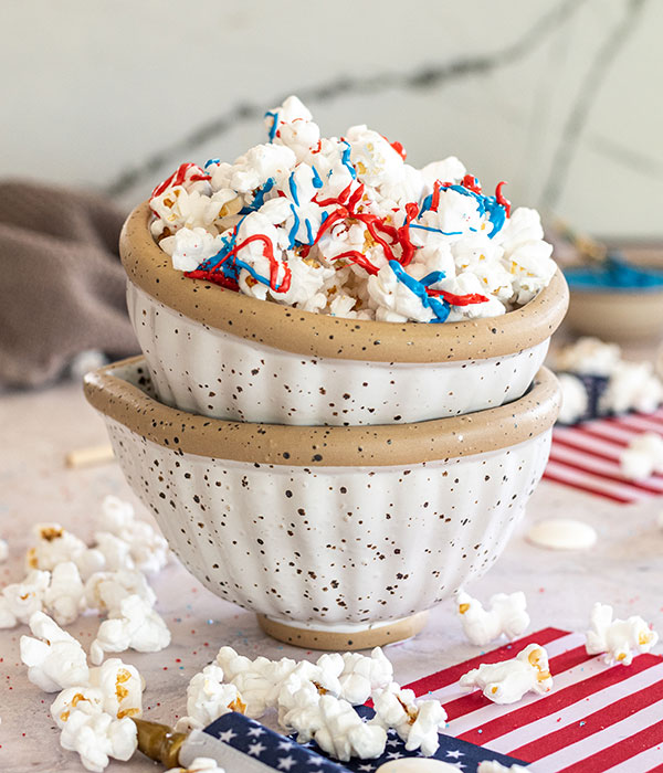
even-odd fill
[{"label": "single popcorn piece lying fully on the front flag's red stripes", "polygon": [[530,644],[511,660],[482,664],[464,674],[461,687],[478,688],[494,703],[515,703],[526,692],[544,695],[552,689],[548,654],[538,644]]}]

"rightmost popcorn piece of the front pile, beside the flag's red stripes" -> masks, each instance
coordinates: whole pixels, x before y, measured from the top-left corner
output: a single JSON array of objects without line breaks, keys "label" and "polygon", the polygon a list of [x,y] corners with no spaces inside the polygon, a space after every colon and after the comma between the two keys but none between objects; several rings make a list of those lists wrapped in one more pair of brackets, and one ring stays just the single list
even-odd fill
[{"label": "rightmost popcorn piece of the front pile, beside the flag's red stripes", "polygon": [[373,699],[376,716],[371,722],[393,728],[408,751],[421,749],[424,756],[438,751],[438,733],[446,727],[446,712],[439,700],[414,701],[412,690],[402,690],[391,682]]}]

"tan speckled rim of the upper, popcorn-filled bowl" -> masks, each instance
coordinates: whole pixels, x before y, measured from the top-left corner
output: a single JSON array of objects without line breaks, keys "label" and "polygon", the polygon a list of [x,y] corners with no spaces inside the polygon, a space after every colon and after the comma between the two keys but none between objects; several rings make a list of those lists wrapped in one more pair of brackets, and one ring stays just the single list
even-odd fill
[{"label": "tan speckled rim of the upper, popcorn-filled bowl", "polygon": [[122,263],[134,285],[208,328],[305,357],[420,363],[503,357],[548,339],[568,307],[568,288],[558,267],[535,298],[501,317],[427,325],[302,311],[186,277],[154,241],[149,219],[145,201],[129,214],[119,237]]}]

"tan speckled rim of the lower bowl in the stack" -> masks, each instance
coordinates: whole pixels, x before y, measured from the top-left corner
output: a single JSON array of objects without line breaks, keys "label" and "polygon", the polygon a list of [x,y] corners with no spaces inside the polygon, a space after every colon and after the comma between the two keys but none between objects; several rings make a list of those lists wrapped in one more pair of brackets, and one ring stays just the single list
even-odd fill
[{"label": "tan speckled rim of the lower bowl in the stack", "polygon": [[149,383],[138,356],[87,373],[84,392],[107,420],[173,454],[257,466],[381,467],[473,456],[543,434],[561,402],[557,379],[541,368],[524,396],[498,407],[412,424],[301,426],[188,413],[149,396],[144,391]]}]

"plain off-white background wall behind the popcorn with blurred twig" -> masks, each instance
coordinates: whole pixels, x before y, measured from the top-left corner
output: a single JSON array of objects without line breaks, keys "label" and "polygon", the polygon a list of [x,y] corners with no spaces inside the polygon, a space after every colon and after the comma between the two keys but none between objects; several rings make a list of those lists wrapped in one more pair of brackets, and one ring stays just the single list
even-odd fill
[{"label": "plain off-white background wall behind the popcorn with blurred twig", "polygon": [[0,176],[146,197],[301,93],[419,166],[604,235],[663,236],[661,0],[2,0]]}]

